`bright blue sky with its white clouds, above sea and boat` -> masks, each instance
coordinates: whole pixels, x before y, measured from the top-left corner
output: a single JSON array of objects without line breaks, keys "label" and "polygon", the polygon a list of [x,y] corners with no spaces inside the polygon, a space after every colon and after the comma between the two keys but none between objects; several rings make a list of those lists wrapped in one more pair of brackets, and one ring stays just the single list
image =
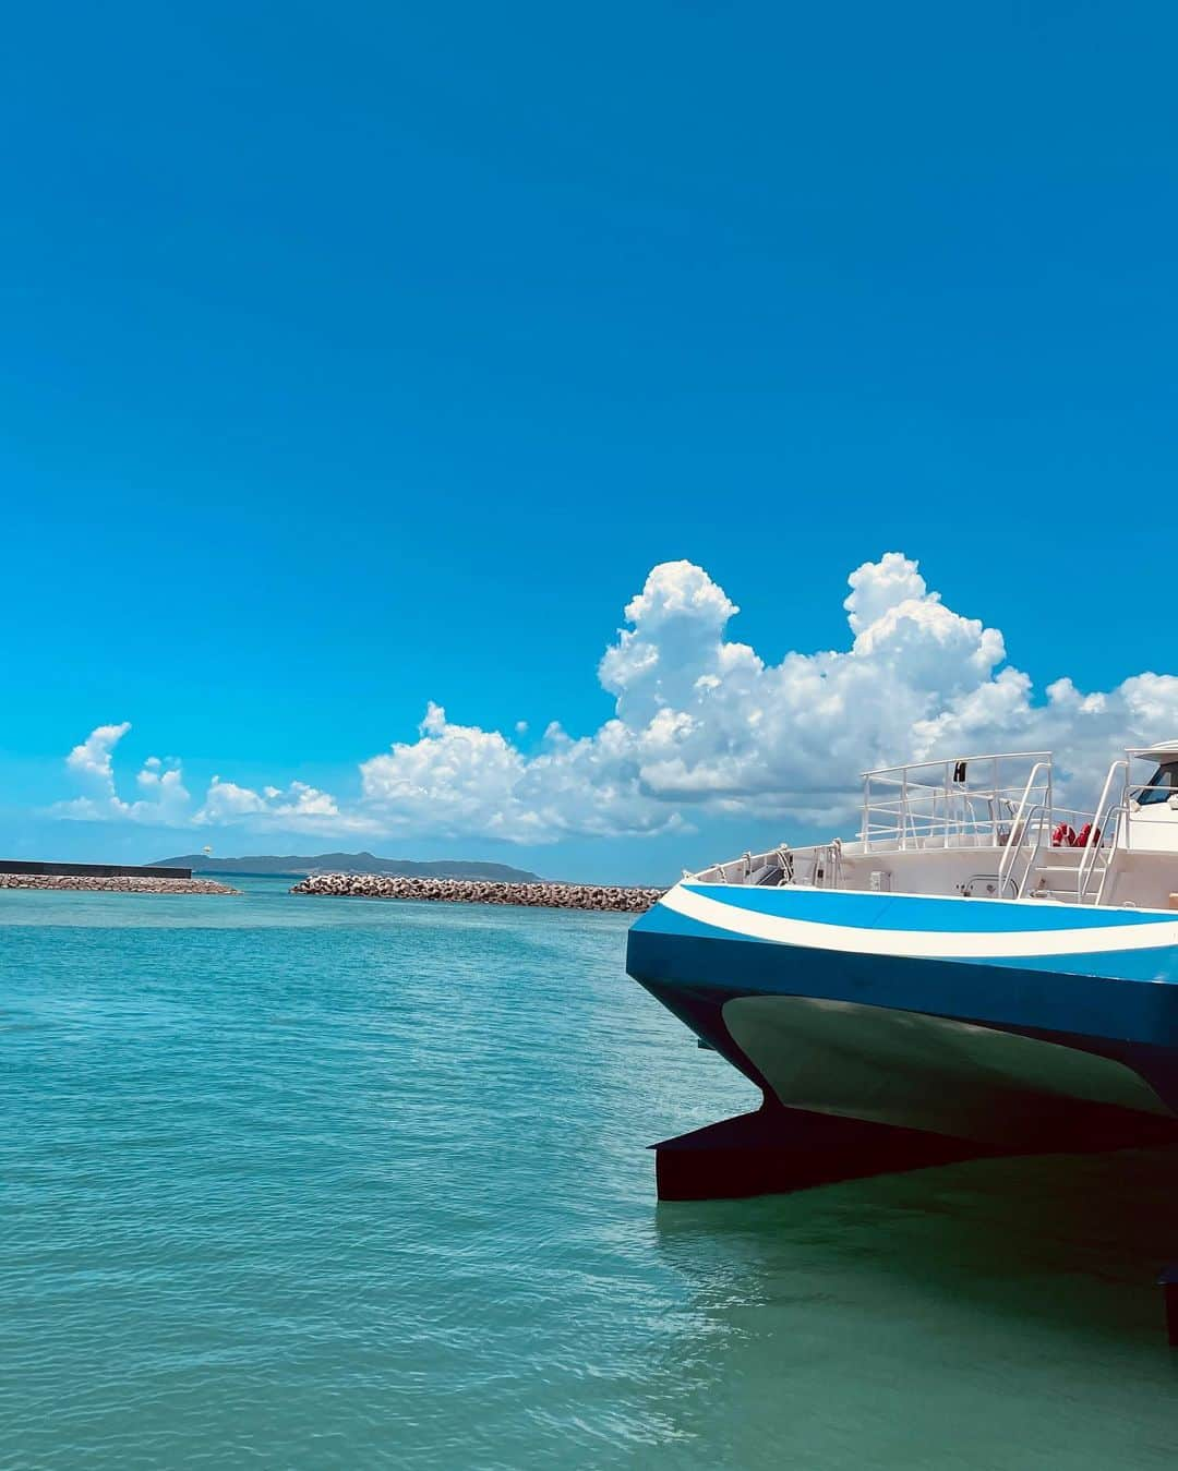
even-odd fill
[{"label": "bright blue sky with its white clouds, above sea and boat", "polygon": [[[0,847],[657,878],[822,830],[800,787],[922,741],[1066,746],[1072,710],[1096,765],[1178,734],[1175,31],[1134,4],[10,16]],[[854,656],[847,577],[887,552],[927,584],[866,575],[899,602],[816,715],[782,659]],[[627,624],[677,562],[707,583],[656,578]],[[649,687],[599,680],[622,627]],[[1065,677],[1103,709],[1049,719]],[[190,793],[160,821],[126,811],[147,758]],[[260,806],[210,805],[215,775]]]}]

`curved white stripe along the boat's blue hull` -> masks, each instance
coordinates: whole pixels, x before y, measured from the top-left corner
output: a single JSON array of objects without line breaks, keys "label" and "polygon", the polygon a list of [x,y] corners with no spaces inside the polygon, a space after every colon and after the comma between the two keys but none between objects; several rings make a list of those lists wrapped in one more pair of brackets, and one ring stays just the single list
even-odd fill
[{"label": "curved white stripe along the boat's blue hull", "polygon": [[[966,903],[968,900],[962,900]],[[677,884],[662,908],[716,930],[809,950],[849,955],[896,955],[913,959],[1010,959],[1049,955],[1104,955],[1113,950],[1159,950],[1178,944],[1178,919],[1156,924],[1109,925],[1085,930],[957,933],[929,930],[865,930],[856,925],[790,919],[785,915],[738,909],[699,890]]]}]

